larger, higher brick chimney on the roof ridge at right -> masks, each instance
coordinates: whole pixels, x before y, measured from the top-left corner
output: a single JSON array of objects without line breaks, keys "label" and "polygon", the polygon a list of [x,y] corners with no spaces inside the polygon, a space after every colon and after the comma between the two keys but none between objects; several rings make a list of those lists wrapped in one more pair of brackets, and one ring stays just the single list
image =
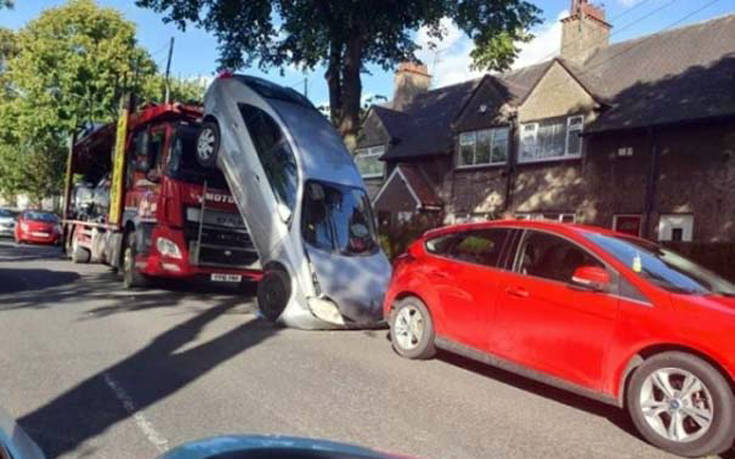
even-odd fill
[{"label": "larger, higher brick chimney on the roof ridge at right", "polygon": [[612,26],[605,22],[605,10],[588,0],[572,0],[569,17],[561,22],[561,57],[577,64],[610,42]]}]

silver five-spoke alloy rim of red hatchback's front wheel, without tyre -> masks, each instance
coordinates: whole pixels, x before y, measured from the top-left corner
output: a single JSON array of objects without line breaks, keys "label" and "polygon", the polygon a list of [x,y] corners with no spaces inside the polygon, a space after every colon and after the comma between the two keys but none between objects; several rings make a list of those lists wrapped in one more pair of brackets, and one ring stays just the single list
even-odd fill
[{"label": "silver five-spoke alloy rim of red hatchback's front wheel, without tyre", "polygon": [[692,442],[712,425],[714,404],[709,389],[681,368],[661,368],[648,375],[639,403],[648,425],[670,441]]}]

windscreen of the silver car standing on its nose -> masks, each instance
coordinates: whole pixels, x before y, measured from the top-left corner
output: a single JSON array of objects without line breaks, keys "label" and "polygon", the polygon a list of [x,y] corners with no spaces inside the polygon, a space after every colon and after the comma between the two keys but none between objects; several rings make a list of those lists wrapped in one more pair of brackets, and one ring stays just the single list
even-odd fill
[{"label": "windscreen of the silver car standing on its nose", "polygon": [[343,255],[378,250],[370,200],[364,190],[311,180],[302,207],[304,240],[319,249]]}]

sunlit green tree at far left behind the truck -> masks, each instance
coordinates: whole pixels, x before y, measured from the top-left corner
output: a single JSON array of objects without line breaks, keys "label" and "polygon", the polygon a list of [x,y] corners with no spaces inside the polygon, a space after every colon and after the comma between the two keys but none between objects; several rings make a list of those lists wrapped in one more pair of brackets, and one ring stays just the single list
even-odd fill
[{"label": "sunlit green tree at far left behind the truck", "polygon": [[71,132],[111,121],[155,64],[135,25],[92,0],[47,9],[14,39],[0,69],[0,187],[40,198],[61,188]]}]

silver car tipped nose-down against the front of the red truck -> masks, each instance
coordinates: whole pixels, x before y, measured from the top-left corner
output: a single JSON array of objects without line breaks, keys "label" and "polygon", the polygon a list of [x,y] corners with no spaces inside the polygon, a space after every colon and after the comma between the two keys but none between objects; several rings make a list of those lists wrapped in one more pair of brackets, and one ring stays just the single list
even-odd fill
[{"label": "silver car tipped nose-down against the front of the red truck", "polygon": [[352,156],[296,91],[243,75],[207,90],[197,156],[224,173],[264,266],[261,313],[298,328],[374,326],[391,267]]}]

